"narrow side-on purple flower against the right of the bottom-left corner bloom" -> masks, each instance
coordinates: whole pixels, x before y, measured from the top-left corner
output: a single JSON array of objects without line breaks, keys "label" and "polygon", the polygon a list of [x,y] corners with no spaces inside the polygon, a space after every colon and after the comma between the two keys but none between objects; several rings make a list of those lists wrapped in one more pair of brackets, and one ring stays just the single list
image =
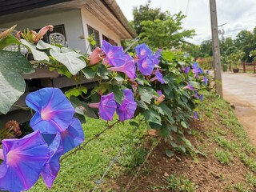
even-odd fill
[{"label": "narrow side-on purple flower against the right of the bottom-left corner bloom", "polygon": [[[49,135],[49,134],[46,134]],[[50,189],[57,177],[58,170],[60,169],[59,159],[62,155],[63,148],[60,145],[61,136],[60,134],[55,134],[54,140],[50,143],[50,158],[46,162],[42,170],[42,179],[46,183],[46,186]]]}]

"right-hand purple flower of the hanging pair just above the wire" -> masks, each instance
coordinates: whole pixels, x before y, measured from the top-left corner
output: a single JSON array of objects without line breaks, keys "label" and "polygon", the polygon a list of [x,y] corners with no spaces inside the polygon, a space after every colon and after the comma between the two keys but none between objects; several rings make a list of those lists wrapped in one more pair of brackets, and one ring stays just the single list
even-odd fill
[{"label": "right-hand purple flower of the hanging pair just above the wire", "polygon": [[121,122],[126,119],[133,118],[134,112],[137,108],[137,103],[134,102],[134,94],[131,90],[122,90],[124,93],[124,98],[122,105],[118,104],[117,114]]}]

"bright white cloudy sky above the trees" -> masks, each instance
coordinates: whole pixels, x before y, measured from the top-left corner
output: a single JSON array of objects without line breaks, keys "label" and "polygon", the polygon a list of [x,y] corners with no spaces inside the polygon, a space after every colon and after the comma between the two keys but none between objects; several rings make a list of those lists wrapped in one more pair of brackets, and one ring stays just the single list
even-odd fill
[{"label": "bright white cloudy sky above the trees", "polygon": [[[147,0],[116,0],[123,14],[131,21],[134,6],[145,5]],[[240,30],[253,30],[256,26],[256,0],[216,0],[218,26],[223,23],[224,37],[235,38]],[[187,17],[183,20],[183,28],[194,29],[196,36],[188,42],[200,44],[211,38],[209,0],[151,0],[152,8],[169,10],[170,14],[182,11]]]}]

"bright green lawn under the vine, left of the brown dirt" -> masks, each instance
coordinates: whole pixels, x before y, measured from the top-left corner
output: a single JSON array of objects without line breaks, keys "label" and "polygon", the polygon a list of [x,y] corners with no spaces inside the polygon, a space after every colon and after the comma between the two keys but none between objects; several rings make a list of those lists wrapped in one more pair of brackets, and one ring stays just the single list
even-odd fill
[{"label": "bright green lawn under the vine, left of the brown dirt", "polygon": [[[86,119],[86,124],[83,124],[86,141],[105,128],[106,122],[102,120]],[[79,150],[62,161],[61,170],[50,191],[91,191],[94,188],[94,181],[102,177],[110,161],[120,150],[122,150],[122,155],[118,157],[119,164],[130,167],[138,166],[146,153],[140,147],[145,129],[146,125],[141,122],[134,132],[134,126],[130,126],[129,121],[126,121],[117,124],[111,130],[106,130],[104,134],[90,142],[85,150]],[[123,146],[124,144],[125,146]],[[133,154],[132,150],[137,150],[138,154]],[[138,161],[137,164],[131,165],[135,160]],[[110,169],[107,177],[118,177],[121,170],[122,166],[115,166],[114,171]],[[39,179],[30,191],[46,190],[42,179]]]}]

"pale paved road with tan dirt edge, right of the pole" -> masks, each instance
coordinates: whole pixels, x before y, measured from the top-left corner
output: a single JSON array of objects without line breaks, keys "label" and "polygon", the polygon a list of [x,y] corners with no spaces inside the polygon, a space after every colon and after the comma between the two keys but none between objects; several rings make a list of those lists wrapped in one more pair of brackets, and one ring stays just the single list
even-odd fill
[{"label": "pale paved road with tan dirt edge, right of the pole", "polygon": [[234,104],[235,114],[256,146],[256,74],[222,73],[223,97]]}]

